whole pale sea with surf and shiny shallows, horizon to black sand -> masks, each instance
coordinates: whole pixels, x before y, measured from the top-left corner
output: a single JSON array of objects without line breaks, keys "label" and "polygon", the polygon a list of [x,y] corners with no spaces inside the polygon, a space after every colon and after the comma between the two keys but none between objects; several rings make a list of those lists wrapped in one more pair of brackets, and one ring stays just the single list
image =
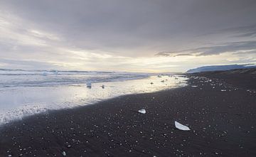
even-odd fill
[{"label": "whole pale sea with surf and shiny shallows, horizon to black sand", "polygon": [[[88,83],[91,87],[87,87]],[[0,70],[0,125],[53,109],[93,104],[124,94],[186,85],[181,75],[132,72]]]}]

